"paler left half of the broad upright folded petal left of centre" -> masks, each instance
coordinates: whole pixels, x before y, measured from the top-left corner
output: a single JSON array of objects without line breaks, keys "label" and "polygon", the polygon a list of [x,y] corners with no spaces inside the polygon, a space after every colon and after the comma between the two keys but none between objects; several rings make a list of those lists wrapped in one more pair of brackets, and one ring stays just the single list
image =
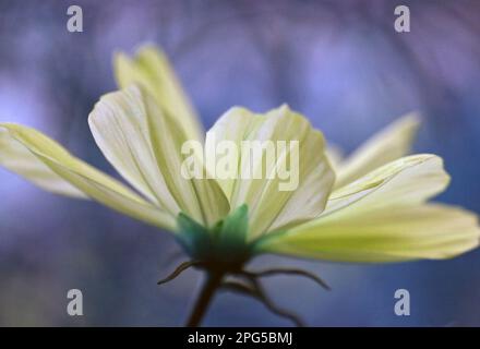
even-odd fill
[{"label": "paler left half of the broad upright folded petal left of centre", "polygon": [[140,89],[107,94],[88,116],[95,142],[116,170],[149,201],[176,216],[180,212],[158,168]]}]

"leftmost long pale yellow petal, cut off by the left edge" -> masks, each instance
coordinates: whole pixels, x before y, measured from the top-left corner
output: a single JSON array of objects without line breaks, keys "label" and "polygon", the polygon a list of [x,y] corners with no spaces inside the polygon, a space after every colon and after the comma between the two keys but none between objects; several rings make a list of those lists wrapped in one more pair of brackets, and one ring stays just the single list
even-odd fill
[{"label": "leftmost long pale yellow petal, cut off by the left edge", "polygon": [[1,164],[40,188],[70,196],[86,195],[133,218],[169,230],[176,228],[173,217],[40,132],[12,123],[1,123],[0,130]]}]

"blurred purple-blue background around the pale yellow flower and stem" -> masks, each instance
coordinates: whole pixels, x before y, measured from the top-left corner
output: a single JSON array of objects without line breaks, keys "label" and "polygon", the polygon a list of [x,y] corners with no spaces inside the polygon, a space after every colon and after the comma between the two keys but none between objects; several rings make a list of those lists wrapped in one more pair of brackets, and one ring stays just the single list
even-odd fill
[{"label": "blurred purple-blue background around the pale yellow flower and stem", "polygon": [[[83,33],[67,9],[83,9]],[[411,32],[394,31],[406,4]],[[171,58],[206,128],[232,105],[283,103],[352,151],[411,110],[418,152],[453,176],[439,200],[480,212],[479,1],[5,1],[0,0],[0,121],[35,127],[112,173],[86,122],[116,88],[111,55],[143,43]],[[179,251],[168,233],[95,203],[43,192],[0,168],[0,325],[179,326],[202,275],[164,287]],[[262,257],[252,268],[301,266],[309,280],[265,280],[273,299],[312,326],[479,326],[480,251],[442,262],[355,265]],[[67,314],[83,291],[84,315]],[[410,291],[411,315],[394,314]],[[293,297],[292,297],[293,294]],[[255,300],[219,293],[212,326],[284,326]]]}]

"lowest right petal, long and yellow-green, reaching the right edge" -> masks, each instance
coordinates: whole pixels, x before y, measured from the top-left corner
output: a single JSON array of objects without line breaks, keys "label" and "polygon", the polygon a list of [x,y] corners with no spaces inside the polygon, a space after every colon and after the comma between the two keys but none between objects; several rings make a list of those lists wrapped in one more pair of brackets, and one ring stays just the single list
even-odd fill
[{"label": "lowest right petal, long and yellow-green, reaching the right edge", "polygon": [[436,204],[331,215],[314,226],[266,239],[263,252],[336,262],[400,262],[448,258],[479,245],[478,217]]}]

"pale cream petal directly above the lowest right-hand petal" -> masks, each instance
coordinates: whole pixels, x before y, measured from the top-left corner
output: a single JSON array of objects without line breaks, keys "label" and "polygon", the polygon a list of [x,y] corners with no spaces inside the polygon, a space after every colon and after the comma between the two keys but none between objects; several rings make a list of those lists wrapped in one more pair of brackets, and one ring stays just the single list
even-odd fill
[{"label": "pale cream petal directly above the lowest right-hand petal", "polygon": [[444,191],[448,182],[441,157],[431,154],[403,157],[335,190],[321,217],[417,205]]}]

